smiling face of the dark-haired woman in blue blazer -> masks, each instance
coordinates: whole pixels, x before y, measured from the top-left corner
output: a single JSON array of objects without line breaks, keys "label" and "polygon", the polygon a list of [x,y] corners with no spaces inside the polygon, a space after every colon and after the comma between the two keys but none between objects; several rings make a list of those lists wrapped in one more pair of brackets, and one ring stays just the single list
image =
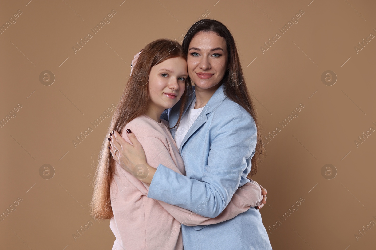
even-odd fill
[{"label": "smiling face of the dark-haired woman in blue blazer", "polygon": [[217,85],[228,68],[226,40],[214,32],[198,32],[188,48],[188,75],[199,88]]}]

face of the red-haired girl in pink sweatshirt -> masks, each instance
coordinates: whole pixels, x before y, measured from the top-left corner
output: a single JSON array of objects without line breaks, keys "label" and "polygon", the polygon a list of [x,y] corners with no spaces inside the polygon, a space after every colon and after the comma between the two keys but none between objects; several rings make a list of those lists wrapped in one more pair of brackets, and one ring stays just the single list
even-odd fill
[{"label": "face of the red-haired girl in pink sweatshirt", "polygon": [[187,77],[187,63],[181,57],[153,66],[149,74],[150,108],[162,113],[173,107],[184,93]]}]

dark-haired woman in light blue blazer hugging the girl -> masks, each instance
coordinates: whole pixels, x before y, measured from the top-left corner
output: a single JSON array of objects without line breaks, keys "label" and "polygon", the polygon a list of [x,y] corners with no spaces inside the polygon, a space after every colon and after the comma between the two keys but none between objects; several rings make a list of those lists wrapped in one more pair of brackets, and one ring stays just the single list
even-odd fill
[{"label": "dark-haired woman in light blue blazer hugging the girl", "polygon": [[[157,169],[151,168],[133,133],[127,134],[130,145],[115,132],[111,153],[128,172],[143,166],[147,175],[142,181],[150,185],[147,197],[190,211],[204,201],[205,209],[198,214],[214,218],[226,208],[235,190],[249,181],[247,175],[256,174],[263,148],[235,41],[221,22],[203,20],[192,25],[183,40],[194,93],[186,105],[178,102],[161,116],[175,125],[182,107],[183,117],[188,118],[192,107],[204,107],[180,145],[186,176],[171,171],[162,162]],[[176,131],[179,127],[171,129],[175,140],[179,136]],[[209,250],[271,249],[261,214],[255,208],[214,225],[183,226],[182,236],[185,250],[202,246]]]}]

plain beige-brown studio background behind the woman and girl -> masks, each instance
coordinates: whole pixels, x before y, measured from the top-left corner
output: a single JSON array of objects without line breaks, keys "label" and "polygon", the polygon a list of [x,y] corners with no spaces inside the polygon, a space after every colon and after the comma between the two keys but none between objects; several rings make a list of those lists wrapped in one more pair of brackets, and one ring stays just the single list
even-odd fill
[{"label": "plain beige-brown studio background behind the woman and girl", "polygon": [[[358,230],[376,223],[376,133],[358,147],[355,140],[376,129],[376,39],[358,53],[354,48],[376,35],[374,1],[28,1],[3,1],[0,8],[1,25],[22,11],[0,34],[0,119],[22,105],[0,128],[0,213],[22,199],[0,222],[2,249],[111,249],[109,221],[88,214],[111,117],[96,128],[91,122],[117,105],[136,52],[158,38],[179,40],[206,10],[237,41],[262,134],[281,129],[265,145],[254,178],[268,191],[265,228],[280,222],[269,231],[273,249],[375,249],[376,226]],[[111,22],[74,53],[111,10]],[[262,53],[299,10],[299,22]],[[44,70],[53,84],[39,81]],[[321,81],[326,70],[336,74],[334,85]],[[282,128],[300,103],[299,116]],[[89,126],[93,131],[75,147]],[[49,180],[39,174],[44,164],[55,170],[52,178],[46,170]],[[326,164],[334,165],[332,174],[321,174]],[[283,221],[299,198],[299,210]]]}]

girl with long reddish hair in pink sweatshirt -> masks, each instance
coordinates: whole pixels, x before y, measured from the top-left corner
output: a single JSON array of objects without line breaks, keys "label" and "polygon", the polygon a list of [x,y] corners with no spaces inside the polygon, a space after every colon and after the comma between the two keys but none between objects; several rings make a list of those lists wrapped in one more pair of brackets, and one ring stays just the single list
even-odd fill
[{"label": "girl with long reddish hair in pink sweatshirt", "polygon": [[[181,45],[158,39],[144,48],[139,60],[114,112],[109,131],[133,130],[145,149],[147,164],[156,168],[159,162],[163,162],[177,174],[185,174],[168,123],[159,117],[180,97],[183,103],[186,102],[186,55]],[[92,215],[97,219],[111,218],[110,228],[116,236],[113,249],[182,250],[181,223],[196,226],[223,222],[251,206],[260,205],[262,200],[258,184],[247,183],[237,190],[217,218],[199,216],[147,198],[149,187],[140,181],[145,173],[136,169],[134,175],[129,174],[111,160],[106,147],[104,142],[91,205]]]}]

